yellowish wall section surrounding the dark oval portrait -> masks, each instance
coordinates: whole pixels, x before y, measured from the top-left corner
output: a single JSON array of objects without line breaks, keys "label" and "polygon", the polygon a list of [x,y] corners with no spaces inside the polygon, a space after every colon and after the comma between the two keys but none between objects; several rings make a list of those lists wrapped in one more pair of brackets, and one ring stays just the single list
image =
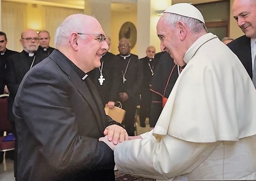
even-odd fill
[{"label": "yellowish wall section surrounding the dark oval portrait", "polygon": [[[121,26],[125,22],[132,22],[137,28],[137,13],[121,13],[117,11],[112,11],[111,14],[111,52],[115,55],[119,54],[118,51],[118,42],[119,42],[119,31]],[[137,54],[137,42],[132,48],[131,53]]]}]

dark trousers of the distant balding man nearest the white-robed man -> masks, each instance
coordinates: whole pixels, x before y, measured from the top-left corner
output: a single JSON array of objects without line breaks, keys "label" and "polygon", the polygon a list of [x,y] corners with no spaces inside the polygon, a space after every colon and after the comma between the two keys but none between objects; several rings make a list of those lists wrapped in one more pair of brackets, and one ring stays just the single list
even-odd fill
[{"label": "dark trousers of the distant balding man nearest the white-robed man", "polygon": [[152,93],[149,89],[141,92],[141,102],[140,102],[140,125],[141,126],[145,125],[145,120],[150,115],[151,99],[152,99]]}]

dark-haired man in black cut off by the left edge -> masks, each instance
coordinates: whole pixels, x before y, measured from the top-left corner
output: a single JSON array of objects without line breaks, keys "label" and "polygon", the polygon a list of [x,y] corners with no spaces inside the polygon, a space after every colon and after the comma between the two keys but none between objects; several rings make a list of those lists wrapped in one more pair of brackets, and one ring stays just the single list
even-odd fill
[{"label": "dark-haired man in black cut off by the left edge", "polygon": [[6,34],[0,31],[0,94],[9,94],[9,90],[6,86],[6,59],[8,56],[18,53],[17,51],[8,50],[6,44]]}]

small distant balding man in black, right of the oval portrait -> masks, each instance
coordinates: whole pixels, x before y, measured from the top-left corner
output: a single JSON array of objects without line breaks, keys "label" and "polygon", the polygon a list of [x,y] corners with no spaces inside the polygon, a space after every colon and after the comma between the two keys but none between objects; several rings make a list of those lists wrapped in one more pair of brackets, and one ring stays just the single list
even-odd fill
[{"label": "small distant balding man in black, right of the oval portrait", "polygon": [[146,127],[145,120],[146,117],[150,115],[150,105],[152,92],[150,91],[152,77],[154,75],[155,69],[157,67],[157,61],[154,59],[155,47],[149,46],[146,49],[146,57],[141,58],[143,80],[140,87],[140,126]]}]

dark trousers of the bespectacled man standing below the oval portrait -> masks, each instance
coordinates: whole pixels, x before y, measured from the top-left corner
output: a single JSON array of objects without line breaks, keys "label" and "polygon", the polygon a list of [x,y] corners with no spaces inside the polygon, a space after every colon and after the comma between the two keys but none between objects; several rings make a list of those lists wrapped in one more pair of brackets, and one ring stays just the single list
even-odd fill
[{"label": "dark trousers of the bespectacled man standing below the oval portrait", "polygon": [[129,98],[122,102],[123,109],[126,110],[123,124],[129,136],[134,136],[134,117],[136,112],[137,100]]}]

